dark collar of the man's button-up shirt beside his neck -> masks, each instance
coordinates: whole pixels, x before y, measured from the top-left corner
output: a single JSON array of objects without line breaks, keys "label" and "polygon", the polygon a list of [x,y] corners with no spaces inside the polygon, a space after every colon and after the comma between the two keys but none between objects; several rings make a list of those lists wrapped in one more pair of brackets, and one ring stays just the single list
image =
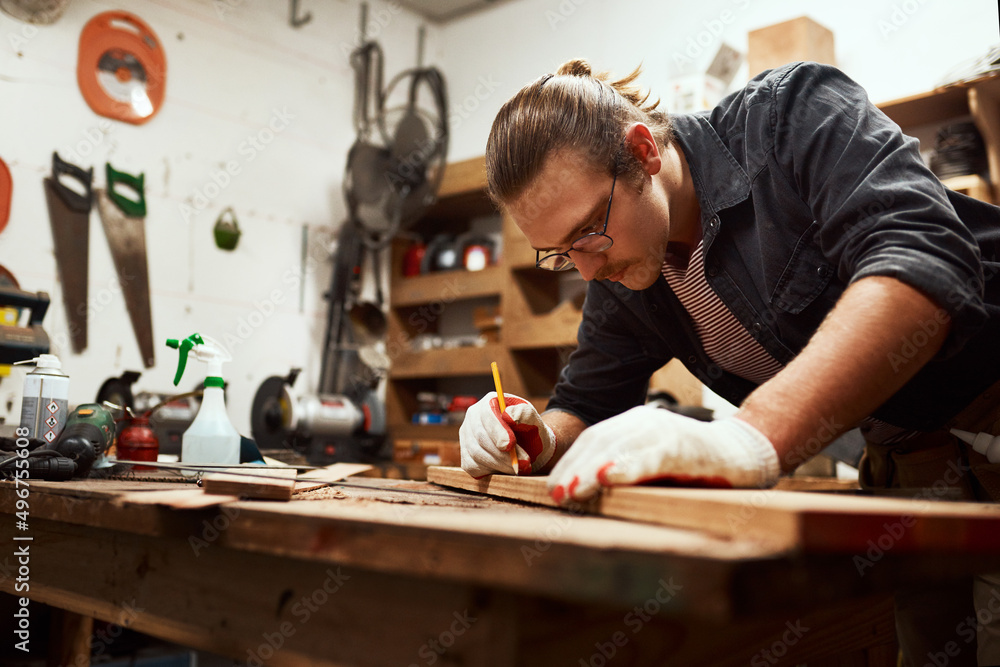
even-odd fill
[{"label": "dark collar of the man's button-up shirt beside his neck", "polygon": [[670,116],[677,143],[684,151],[695,195],[706,221],[750,195],[750,177],[722,143],[702,114]]}]

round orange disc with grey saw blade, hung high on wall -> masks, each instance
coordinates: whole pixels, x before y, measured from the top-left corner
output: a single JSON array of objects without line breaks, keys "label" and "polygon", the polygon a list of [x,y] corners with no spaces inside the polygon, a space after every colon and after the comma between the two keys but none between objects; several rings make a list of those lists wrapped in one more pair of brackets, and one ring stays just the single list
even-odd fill
[{"label": "round orange disc with grey saw blade, hung high on wall", "polygon": [[156,33],[134,14],[102,12],[80,33],[76,80],[95,113],[140,125],[163,106],[167,60]]}]

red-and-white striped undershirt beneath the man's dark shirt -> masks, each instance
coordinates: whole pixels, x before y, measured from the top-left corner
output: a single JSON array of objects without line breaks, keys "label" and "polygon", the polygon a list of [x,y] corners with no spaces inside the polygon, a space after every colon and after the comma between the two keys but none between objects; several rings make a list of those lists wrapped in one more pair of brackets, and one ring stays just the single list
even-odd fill
[{"label": "red-and-white striped undershirt beneath the man's dark shirt", "polygon": [[[685,266],[682,256],[668,250],[660,272],[691,316],[708,358],[728,373],[763,384],[784,366],[750,335],[708,284],[703,253],[703,243],[699,241]],[[859,426],[872,442],[898,442],[918,435],[916,431],[871,417]]]}]

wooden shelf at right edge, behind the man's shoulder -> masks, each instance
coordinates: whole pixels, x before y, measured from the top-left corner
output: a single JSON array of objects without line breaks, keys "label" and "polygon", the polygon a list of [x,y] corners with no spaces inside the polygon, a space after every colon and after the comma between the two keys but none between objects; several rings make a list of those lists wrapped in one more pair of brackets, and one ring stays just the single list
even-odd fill
[{"label": "wooden shelf at right edge, behind the man's shoulder", "polygon": [[989,180],[969,175],[946,179],[944,184],[971,197],[997,203],[996,185],[1000,184],[1000,75],[937,88],[884,102],[878,107],[903,132],[916,136],[921,143],[928,139],[924,130],[931,126],[971,117],[986,145]]}]

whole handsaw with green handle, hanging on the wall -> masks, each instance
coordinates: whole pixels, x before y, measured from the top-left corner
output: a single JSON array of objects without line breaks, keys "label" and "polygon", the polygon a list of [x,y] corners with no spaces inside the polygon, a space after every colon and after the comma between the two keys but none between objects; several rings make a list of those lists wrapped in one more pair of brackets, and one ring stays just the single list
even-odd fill
[{"label": "whole handsaw with green handle, hanging on the wall", "polygon": [[[106,165],[107,189],[94,191],[97,209],[104,225],[104,235],[111,248],[118,283],[125,297],[132,330],[135,332],[142,363],[146,368],[155,364],[153,352],[153,318],[149,305],[149,270],[146,265],[146,195],[145,175],[133,176]],[[137,197],[129,199],[120,186],[132,189]]]}]

